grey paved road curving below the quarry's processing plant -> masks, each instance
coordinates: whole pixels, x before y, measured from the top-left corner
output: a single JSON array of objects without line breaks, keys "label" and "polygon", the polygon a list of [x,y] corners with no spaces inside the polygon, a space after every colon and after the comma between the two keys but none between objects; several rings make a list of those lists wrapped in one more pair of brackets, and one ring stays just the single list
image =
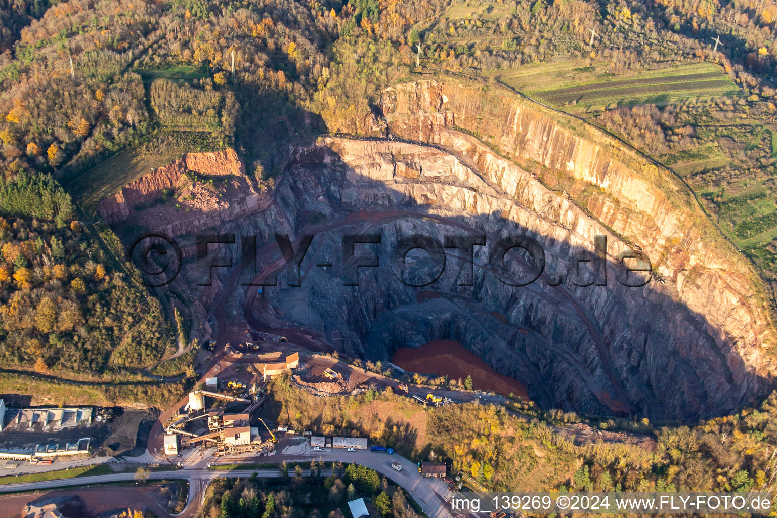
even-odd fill
[{"label": "grey paved road curving below the quarry's processing plant", "polygon": [[[369,450],[357,450],[348,452],[346,450],[332,450],[327,448],[322,451],[314,451],[308,445],[301,446],[301,452],[295,454],[276,454],[267,457],[249,457],[241,456],[239,460],[230,459],[236,462],[254,462],[261,464],[270,464],[294,461],[341,461],[344,464],[361,464],[372,468],[378,473],[385,475],[389,480],[404,488],[413,499],[418,502],[427,513],[429,518],[451,518],[448,512],[446,501],[450,491],[448,485],[439,478],[423,478],[418,472],[416,464],[399,455],[389,455],[382,453],[373,453]],[[205,497],[205,488],[215,478],[237,478],[250,477],[258,473],[260,477],[277,477],[280,471],[277,468],[270,469],[232,469],[232,470],[209,470],[207,469],[208,459],[191,457],[192,462],[186,462],[184,468],[176,471],[152,471],[149,475],[150,480],[162,479],[185,479],[189,481],[189,498],[186,509],[183,513],[177,515],[181,518],[195,516],[200,510]],[[392,461],[402,464],[402,471],[395,471],[391,467]],[[345,466],[343,466],[344,470]],[[307,473],[307,471],[305,471]],[[323,474],[329,475],[331,470],[323,471]],[[290,475],[294,475],[290,471]],[[59,480],[23,482],[21,484],[2,484],[0,492],[20,492],[20,491],[40,491],[53,488],[68,488],[76,485],[101,484],[103,482],[115,481],[134,481],[134,473],[114,473],[113,475],[96,475],[91,477],[61,478]],[[2,504],[2,497],[0,497]]]}]

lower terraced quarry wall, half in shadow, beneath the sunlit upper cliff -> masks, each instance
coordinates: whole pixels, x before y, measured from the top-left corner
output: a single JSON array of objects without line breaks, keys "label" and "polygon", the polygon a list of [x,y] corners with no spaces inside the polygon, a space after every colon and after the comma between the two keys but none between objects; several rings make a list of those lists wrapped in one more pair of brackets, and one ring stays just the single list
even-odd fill
[{"label": "lower terraced quarry wall, half in shadow, beneath the sunlit upper cliff", "polygon": [[[315,234],[302,263],[302,287],[266,287],[263,301],[249,298],[246,316],[254,329],[315,330],[319,342],[383,361],[398,346],[454,339],[527,385],[541,405],[593,414],[697,419],[730,412],[766,390],[768,381],[757,372],[764,368],[760,344],[750,344],[754,354],[743,358],[736,346],[744,337],[720,342],[728,330],[710,332],[713,325],[681,300],[673,280],[622,286],[615,280],[617,256],[631,245],[475,137],[439,131],[441,142],[468,154],[328,138],[299,155],[287,169],[290,192],[278,194],[290,203],[289,214],[322,214],[326,224],[318,228],[325,230]],[[354,212],[358,217],[349,217]],[[304,217],[281,226],[294,235],[316,228],[304,225]],[[360,268],[359,286],[343,287],[353,271],[314,265],[342,260],[343,235],[355,230],[382,235],[379,246],[362,245],[380,266]],[[474,232],[488,239],[474,249],[470,282],[451,250],[428,286],[408,284],[434,280],[437,259],[411,252],[405,260],[411,274],[396,267],[392,252],[402,238],[424,235],[442,243],[445,235]],[[516,263],[495,268],[490,253],[498,240],[521,234],[542,244],[548,278],[512,287],[503,280],[525,269]],[[607,284],[577,286],[585,279],[574,259],[593,256],[596,235],[608,240]],[[552,286],[559,277],[560,285]],[[467,283],[473,286],[462,286]]]}]

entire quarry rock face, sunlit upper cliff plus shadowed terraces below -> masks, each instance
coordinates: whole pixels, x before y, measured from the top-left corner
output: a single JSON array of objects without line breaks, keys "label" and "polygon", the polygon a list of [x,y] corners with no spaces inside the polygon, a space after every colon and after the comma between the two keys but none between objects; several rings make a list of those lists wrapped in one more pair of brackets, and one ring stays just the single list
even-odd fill
[{"label": "entire quarry rock face, sunlit upper cliff plus shadowed terraces below", "polygon": [[[236,242],[256,236],[256,270],[214,272],[255,336],[383,361],[400,346],[451,339],[545,408],[597,415],[695,420],[772,387],[759,280],[669,173],[598,130],[478,85],[399,85],[381,104],[392,133],[413,142],[319,139],[294,151],[271,202],[248,202],[256,191],[235,186],[188,220],[197,224],[179,224],[206,228],[214,210]],[[284,263],[276,233],[297,252],[313,236],[298,268]],[[455,238],[480,235],[469,266]],[[510,249],[531,249],[521,235],[545,254],[528,284],[531,258]],[[606,237],[604,257],[596,236]],[[653,272],[626,287],[618,256],[635,248]],[[190,284],[195,270],[183,269]]]}]

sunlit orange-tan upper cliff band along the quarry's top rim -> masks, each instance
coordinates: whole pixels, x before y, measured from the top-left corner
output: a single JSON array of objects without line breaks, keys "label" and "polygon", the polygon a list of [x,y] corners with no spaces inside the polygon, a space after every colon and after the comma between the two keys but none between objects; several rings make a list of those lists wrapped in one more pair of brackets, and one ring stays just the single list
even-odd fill
[{"label": "sunlit orange-tan upper cliff band along the quarry's top rim", "polygon": [[[393,133],[441,144],[471,159],[512,196],[524,188],[517,181],[521,177],[454,128],[479,135],[547,183],[567,189],[596,220],[653,259],[667,290],[698,315],[696,328],[714,340],[727,363],[744,363],[758,374],[773,370],[764,354],[775,346],[775,336],[761,281],[670,172],[596,128],[482,85],[398,85],[385,92],[381,105]],[[557,221],[566,226],[563,217]]]}]

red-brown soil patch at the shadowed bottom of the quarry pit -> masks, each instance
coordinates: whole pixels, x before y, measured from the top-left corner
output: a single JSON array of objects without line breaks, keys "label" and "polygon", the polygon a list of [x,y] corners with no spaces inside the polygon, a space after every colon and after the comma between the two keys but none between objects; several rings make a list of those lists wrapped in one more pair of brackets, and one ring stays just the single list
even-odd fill
[{"label": "red-brown soil patch at the shadowed bottom of the quarry pit", "polygon": [[526,388],[521,383],[498,374],[475,353],[452,340],[434,340],[420,347],[400,347],[392,356],[392,363],[409,372],[447,375],[453,380],[472,376],[472,386],[476,390],[504,396],[512,392],[514,396],[528,400]]}]

